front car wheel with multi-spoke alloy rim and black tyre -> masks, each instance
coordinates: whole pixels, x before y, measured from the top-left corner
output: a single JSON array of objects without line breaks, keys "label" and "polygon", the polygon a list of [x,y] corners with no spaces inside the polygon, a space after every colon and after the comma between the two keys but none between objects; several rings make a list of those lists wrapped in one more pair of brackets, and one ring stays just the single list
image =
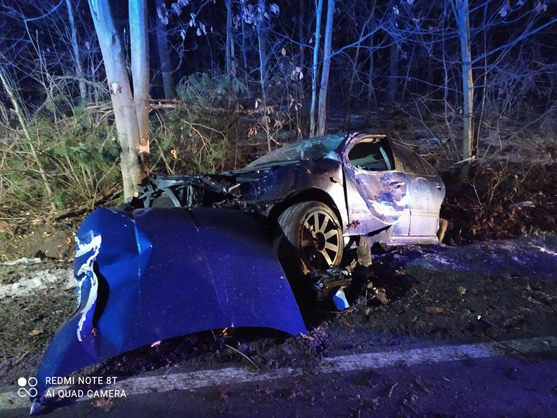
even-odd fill
[{"label": "front car wheel with multi-spoke alloy rim and black tyre", "polygon": [[278,224],[297,251],[304,274],[326,270],[342,261],[343,230],[335,212],[324,203],[296,203],[281,213]]}]

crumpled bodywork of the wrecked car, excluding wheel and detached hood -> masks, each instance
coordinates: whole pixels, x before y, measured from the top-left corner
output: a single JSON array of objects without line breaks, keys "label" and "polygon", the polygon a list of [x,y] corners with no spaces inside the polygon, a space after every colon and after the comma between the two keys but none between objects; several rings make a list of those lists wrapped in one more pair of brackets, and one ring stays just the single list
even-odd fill
[{"label": "crumpled bodywork of the wrecked car, excluding wheel and detached hood", "polygon": [[[352,164],[350,153],[361,144],[375,144],[384,167],[379,161],[371,169]],[[134,205],[149,207],[164,196],[175,206],[234,208],[272,219],[292,203],[317,200],[336,210],[347,238],[429,243],[437,242],[445,186],[407,146],[354,133],[290,144],[220,175],[159,176]]]}]

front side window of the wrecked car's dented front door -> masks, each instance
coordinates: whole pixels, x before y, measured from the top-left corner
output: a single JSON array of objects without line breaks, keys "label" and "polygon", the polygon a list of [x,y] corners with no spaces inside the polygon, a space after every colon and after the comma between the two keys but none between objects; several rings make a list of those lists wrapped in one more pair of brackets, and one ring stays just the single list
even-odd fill
[{"label": "front side window of the wrecked car's dented front door", "polygon": [[394,169],[393,157],[386,139],[364,139],[354,145],[348,153],[352,166],[366,171],[387,171]]}]

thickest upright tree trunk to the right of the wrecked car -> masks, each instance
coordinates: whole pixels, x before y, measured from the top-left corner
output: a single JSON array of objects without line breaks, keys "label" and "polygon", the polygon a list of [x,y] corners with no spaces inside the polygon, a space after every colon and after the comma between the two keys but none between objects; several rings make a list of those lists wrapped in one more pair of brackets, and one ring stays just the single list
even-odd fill
[{"label": "thickest upright tree trunk to the right of the wrecked car", "polygon": [[455,3],[458,35],[460,39],[460,55],[462,61],[462,107],[464,111],[464,126],[462,130],[462,160],[466,160],[462,169],[461,180],[467,180],[470,167],[469,159],[472,156],[472,114],[474,95],[471,63],[472,59],[470,52],[470,20],[468,0],[455,0]]}]

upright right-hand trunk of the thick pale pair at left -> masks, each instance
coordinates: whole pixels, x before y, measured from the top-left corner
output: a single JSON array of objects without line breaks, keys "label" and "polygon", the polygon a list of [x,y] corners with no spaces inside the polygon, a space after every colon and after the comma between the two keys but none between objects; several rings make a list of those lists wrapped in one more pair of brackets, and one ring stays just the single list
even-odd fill
[{"label": "upright right-hand trunk of the thick pale pair at left", "polygon": [[148,175],[149,168],[149,32],[147,0],[130,0],[130,47],[132,48],[132,80],[134,105],[139,128],[139,158]]}]

